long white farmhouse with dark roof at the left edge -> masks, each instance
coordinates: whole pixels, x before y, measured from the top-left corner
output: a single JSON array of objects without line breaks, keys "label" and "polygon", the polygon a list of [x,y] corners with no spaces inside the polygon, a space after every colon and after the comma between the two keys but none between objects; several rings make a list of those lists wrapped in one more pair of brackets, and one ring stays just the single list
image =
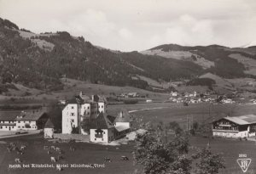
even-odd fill
[{"label": "long white farmhouse with dark roof at the left edge", "polygon": [[0,131],[43,129],[48,118],[42,109],[0,112]]}]

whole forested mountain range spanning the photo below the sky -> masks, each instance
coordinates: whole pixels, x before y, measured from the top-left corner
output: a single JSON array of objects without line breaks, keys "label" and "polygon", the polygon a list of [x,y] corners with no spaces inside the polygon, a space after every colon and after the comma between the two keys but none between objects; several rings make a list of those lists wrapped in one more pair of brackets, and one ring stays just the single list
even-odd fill
[{"label": "whole forested mountain range spanning the photo below the sky", "polygon": [[255,54],[255,48],[175,44],[122,53],[67,31],[36,34],[0,18],[0,93],[12,82],[59,90],[63,77],[149,90],[154,84],[191,80],[207,72],[224,78],[254,77]]}]

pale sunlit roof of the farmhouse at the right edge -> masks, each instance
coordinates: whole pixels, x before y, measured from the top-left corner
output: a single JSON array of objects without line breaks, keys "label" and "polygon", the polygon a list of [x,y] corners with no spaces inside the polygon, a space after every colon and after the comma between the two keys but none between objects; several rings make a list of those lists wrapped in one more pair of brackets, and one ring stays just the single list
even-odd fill
[{"label": "pale sunlit roof of the farmhouse at the right edge", "polygon": [[226,116],[223,119],[232,121],[238,125],[250,125],[256,123],[256,115]]}]

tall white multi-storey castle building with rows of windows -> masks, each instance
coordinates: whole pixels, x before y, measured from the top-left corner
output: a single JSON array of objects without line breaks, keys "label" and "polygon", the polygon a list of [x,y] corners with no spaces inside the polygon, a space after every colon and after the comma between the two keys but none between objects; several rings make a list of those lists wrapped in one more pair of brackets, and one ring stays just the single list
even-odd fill
[{"label": "tall white multi-storey castle building with rows of windows", "polygon": [[69,101],[62,110],[62,133],[71,134],[73,127],[79,127],[79,132],[86,134],[80,123],[84,119],[96,119],[99,113],[106,113],[107,102],[105,98],[92,95],[91,98],[82,92],[72,101]]}]

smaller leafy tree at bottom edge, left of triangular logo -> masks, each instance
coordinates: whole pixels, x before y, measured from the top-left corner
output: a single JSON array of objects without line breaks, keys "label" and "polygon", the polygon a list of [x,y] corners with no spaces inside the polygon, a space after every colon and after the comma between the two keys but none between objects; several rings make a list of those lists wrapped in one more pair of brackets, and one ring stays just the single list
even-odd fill
[{"label": "smaller leafy tree at bottom edge, left of triangular logo", "polygon": [[199,160],[196,163],[197,174],[216,174],[219,169],[225,168],[224,159],[220,154],[212,154],[210,149],[201,149],[197,154],[194,154],[193,159]]}]

